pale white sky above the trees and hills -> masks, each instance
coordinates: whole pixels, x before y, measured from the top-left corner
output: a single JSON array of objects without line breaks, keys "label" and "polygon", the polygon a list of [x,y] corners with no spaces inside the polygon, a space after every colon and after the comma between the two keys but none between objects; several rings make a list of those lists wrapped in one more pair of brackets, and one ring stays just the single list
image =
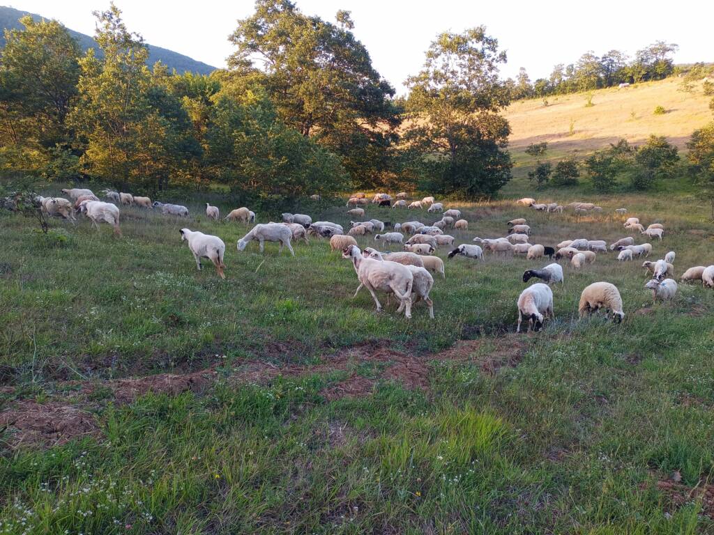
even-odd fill
[{"label": "pale white sky above the trees and hills", "polygon": [[[402,83],[421,67],[424,51],[441,31],[484,24],[508,51],[505,76],[526,67],[531,80],[547,77],[555,63],[572,63],[588,50],[610,49],[633,55],[658,39],[680,46],[675,61],[714,61],[712,0],[456,1],[296,0],[306,14],[334,21],[338,9],[352,12],[353,30],[373,65],[403,93]],[[15,9],[61,21],[94,35],[91,11],[102,0],[13,0]],[[253,1],[116,0],[131,31],[209,65],[223,67],[231,54],[228,34],[236,20],[253,12]]]}]

